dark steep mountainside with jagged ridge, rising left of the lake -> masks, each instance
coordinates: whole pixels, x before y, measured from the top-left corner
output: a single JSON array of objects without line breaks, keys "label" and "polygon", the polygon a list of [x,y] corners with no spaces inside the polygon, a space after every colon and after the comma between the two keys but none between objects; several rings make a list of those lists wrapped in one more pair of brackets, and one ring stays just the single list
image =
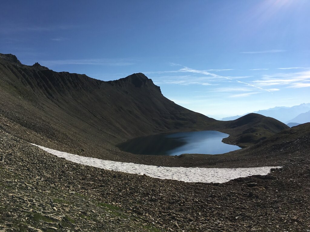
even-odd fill
[{"label": "dark steep mountainside with jagged ridge, rising left of the lake", "polygon": [[91,137],[114,143],[163,131],[200,129],[215,121],[168,100],[141,73],[104,82],[86,75],[57,73],[38,64],[21,65],[16,60],[11,55],[1,60],[1,110],[43,135],[62,140],[64,135],[56,131],[65,134],[79,128]]}]

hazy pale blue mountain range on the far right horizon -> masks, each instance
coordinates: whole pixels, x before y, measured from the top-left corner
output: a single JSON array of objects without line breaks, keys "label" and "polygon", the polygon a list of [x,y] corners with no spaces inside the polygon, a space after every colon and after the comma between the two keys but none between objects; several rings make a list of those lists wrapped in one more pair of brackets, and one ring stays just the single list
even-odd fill
[{"label": "hazy pale blue mountain range on the far right horizon", "polygon": [[[310,122],[310,103],[303,103],[300,105],[294,105],[292,107],[286,107],[286,106],[274,107],[267,110],[255,111],[253,113],[262,114],[267,117],[272,117],[286,124],[289,122],[296,122],[301,124],[305,122]],[[223,121],[235,120],[244,115],[226,117],[222,118],[222,120]]]}]

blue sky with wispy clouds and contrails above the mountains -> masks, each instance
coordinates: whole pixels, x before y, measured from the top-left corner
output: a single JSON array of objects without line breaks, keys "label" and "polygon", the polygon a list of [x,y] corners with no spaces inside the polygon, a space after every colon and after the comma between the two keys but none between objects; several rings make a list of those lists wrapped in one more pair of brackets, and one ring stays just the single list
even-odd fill
[{"label": "blue sky with wispy clouds and contrails above the mountains", "polygon": [[2,1],[0,53],[114,80],[143,72],[217,119],[310,100],[310,1]]}]

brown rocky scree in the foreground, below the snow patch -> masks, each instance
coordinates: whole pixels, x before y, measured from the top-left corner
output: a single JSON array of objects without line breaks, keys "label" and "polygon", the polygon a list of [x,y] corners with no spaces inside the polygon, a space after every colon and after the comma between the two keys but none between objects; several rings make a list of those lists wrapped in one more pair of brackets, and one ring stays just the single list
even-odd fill
[{"label": "brown rocky scree in the foreground, below the snow patch", "polygon": [[266,150],[246,148],[259,156],[290,154],[282,169],[223,184],[83,166],[0,129],[0,230],[307,231],[309,127],[262,141]]}]

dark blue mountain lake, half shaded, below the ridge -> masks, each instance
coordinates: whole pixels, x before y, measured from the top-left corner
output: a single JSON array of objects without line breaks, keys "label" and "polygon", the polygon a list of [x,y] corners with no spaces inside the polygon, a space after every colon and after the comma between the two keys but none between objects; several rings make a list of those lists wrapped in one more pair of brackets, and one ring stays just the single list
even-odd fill
[{"label": "dark blue mountain lake, half shaded, below the ridge", "polygon": [[118,144],[117,147],[134,154],[167,156],[184,153],[215,155],[240,149],[236,145],[222,142],[228,136],[219,131],[177,132],[139,137]]}]

